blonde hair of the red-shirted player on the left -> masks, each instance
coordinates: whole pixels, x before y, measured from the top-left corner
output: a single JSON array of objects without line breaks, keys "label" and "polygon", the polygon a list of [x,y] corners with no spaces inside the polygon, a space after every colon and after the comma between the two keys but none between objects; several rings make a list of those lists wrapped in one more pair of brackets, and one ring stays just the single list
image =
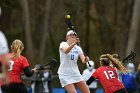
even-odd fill
[{"label": "blonde hair of the red-shirted player on the left", "polygon": [[22,41],[16,39],[12,42],[11,49],[13,56],[12,57],[20,57],[22,49],[24,48]]}]

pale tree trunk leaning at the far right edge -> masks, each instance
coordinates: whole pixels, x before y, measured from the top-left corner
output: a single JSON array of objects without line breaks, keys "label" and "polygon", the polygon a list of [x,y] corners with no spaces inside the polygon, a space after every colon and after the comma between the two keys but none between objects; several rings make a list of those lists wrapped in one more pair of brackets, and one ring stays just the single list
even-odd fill
[{"label": "pale tree trunk leaning at the far right edge", "polygon": [[139,30],[139,23],[140,23],[140,0],[135,0],[132,21],[131,21],[131,28],[128,37],[128,43],[126,48],[126,55],[128,55],[129,51],[134,51],[137,34]]}]

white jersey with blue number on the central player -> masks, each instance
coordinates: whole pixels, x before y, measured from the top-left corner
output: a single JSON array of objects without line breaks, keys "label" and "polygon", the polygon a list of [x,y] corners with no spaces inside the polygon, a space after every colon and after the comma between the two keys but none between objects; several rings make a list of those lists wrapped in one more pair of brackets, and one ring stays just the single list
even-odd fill
[{"label": "white jersey with blue number on the central player", "polygon": [[81,47],[75,45],[67,54],[61,50],[63,47],[69,47],[68,43],[61,42],[59,46],[60,66],[58,74],[70,76],[81,75],[77,66],[78,57],[83,54]]}]

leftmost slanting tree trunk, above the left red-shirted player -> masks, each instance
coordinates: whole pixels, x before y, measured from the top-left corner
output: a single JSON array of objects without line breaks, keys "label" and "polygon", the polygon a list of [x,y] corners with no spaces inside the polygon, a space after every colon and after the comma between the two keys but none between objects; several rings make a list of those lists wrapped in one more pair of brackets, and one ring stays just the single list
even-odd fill
[{"label": "leftmost slanting tree trunk, above the left red-shirted player", "polygon": [[23,10],[23,22],[25,30],[25,41],[26,41],[26,54],[30,60],[33,60],[33,42],[30,29],[30,14],[28,0],[20,0],[21,8]]}]

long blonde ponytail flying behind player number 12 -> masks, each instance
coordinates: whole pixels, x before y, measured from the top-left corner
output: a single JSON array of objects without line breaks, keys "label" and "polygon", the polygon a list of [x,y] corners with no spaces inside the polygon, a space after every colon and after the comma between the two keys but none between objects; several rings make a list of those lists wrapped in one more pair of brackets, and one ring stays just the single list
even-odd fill
[{"label": "long blonde ponytail flying behind player number 12", "polygon": [[119,71],[121,71],[121,72],[123,72],[123,73],[127,73],[127,69],[122,65],[122,63],[121,63],[119,60],[113,58],[113,56],[110,55],[110,54],[107,54],[106,56],[109,58],[109,60],[112,62],[112,64],[113,64]]}]

